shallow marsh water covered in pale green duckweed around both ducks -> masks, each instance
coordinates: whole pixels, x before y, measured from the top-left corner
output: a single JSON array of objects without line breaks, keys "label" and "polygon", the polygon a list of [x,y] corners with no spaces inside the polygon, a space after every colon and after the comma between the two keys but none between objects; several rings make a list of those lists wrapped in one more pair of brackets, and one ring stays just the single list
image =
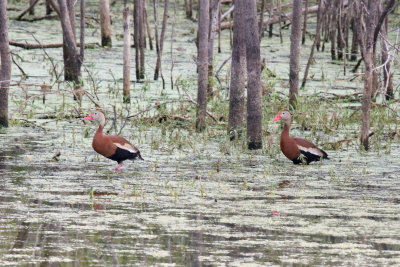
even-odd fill
[{"label": "shallow marsh water covered in pale green duckweed around both ducks", "polygon": [[[120,16],[115,25],[118,21]],[[58,27],[54,22],[35,23],[38,28],[50,24]],[[27,27],[32,25],[11,21],[11,38],[33,42],[27,29],[37,31],[43,43],[58,36],[54,26],[48,31]],[[176,25],[174,51],[181,55],[176,55],[174,75],[187,79],[186,89],[195,95],[196,81],[190,80],[195,77],[191,58],[195,46],[188,32],[188,27]],[[98,41],[95,37],[88,42]],[[264,40],[263,51],[271,61],[269,67],[279,75],[277,90],[285,92],[281,87],[288,72],[288,51],[276,48],[278,39]],[[122,67],[117,65],[122,62],[121,42],[115,41],[115,46],[86,52],[99,83],[99,101],[109,114],[111,105],[125,112],[121,95],[114,94],[114,81],[121,88],[122,77]],[[51,67],[42,60],[42,51],[13,50],[27,60],[22,66],[31,77],[25,82],[49,82]],[[60,49],[48,53],[60,62]],[[308,50],[303,53],[304,63]],[[165,56],[169,62],[169,54]],[[361,90],[360,84],[349,84],[339,75],[340,66],[327,60],[328,54],[318,56],[324,63],[314,65],[312,73],[326,71],[325,80],[311,82],[308,93],[326,93],[328,88],[343,94],[354,92],[354,87]],[[222,62],[227,53],[216,57]],[[17,69],[13,75],[19,79]],[[39,94],[39,90],[30,87],[29,93]],[[360,152],[354,141],[328,150],[329,161],[294,166],[280,154],[280,128],[270,122],[264,130],[273,133],[273,143],[258,152],[230,143],[219,128],[196,134],[187,124],[168,128],[128,123],[122,135],[140,148],[145,161],[128,162],[124,172],[116,174],[108,170],[114,163],[91,149],[94,124],[40,119],[59,114],[63,101],[62,112],[74,114],[74,102],[60,95],[48,95],[45,105],[36,100],[25,107],[19,101],[24,99],[22,90],[11,90],[11,117],[16,123],[0,132],[2,266],[400,264],[398,139],[388,144],[390,149],[368,153]],[[178,92],[162,91],[160,83],[148,81],[136,84],[132,96],[130,114],[176,98]],[[91,109],[85,99],[84,110]],[[20,119],[34,124],[18,123]],[[294,135],[310,134],[299,128],[294,125]],[[357,131],[354,126],[333,136],[317,132],[316,137],[323,144]],[[61,155],[54,161],[57,150]]]}]

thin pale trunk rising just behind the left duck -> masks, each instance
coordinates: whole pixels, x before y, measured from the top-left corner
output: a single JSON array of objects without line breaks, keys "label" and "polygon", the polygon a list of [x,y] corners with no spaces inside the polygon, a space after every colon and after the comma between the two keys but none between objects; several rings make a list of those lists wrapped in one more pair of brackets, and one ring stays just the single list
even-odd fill
[{"label": "thin pale trunk rising just behind the left duck", "polygon": [[123,102],[130,103],[131,86],[131,28],[129,19],[129,6],[123,11],[124,18],[124,59],[123,59]]}]

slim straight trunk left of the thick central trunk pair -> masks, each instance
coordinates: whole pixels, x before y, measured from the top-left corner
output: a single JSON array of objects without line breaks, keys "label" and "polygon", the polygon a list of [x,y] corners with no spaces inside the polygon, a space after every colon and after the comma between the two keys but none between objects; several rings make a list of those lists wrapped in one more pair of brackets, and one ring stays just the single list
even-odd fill
[{"label": "slim straight trunk left of the thick central trunk pair", "polygon": [[196,130],[203,131],[206,128],[207,109],[207,84],[208,84],[208,30],[210,28],[210,2],[209,0],[199,1],[199,47],[197,56],[198,91],[196,109]]}]

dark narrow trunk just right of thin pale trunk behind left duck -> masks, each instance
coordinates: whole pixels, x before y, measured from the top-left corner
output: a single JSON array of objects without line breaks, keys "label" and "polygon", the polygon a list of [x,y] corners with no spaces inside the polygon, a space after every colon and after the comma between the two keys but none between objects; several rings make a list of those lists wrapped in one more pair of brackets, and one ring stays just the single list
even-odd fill
[{"label": "dark narrow trunk just right of thin pale trunk behind left duck", "polygon": [[134,22],[134,42],[135,42],[135,65],[136,65],[136,79],[144,79],[144,0],[135,0],[135,7],[133,12]]}]

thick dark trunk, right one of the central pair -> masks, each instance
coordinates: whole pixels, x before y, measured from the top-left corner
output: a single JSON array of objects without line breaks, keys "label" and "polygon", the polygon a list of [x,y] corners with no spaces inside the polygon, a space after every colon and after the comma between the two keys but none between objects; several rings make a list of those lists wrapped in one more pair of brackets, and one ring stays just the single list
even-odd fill
[{"label": "thick dark trunk, right one of the central pair", "polygon": [[[247,61],[247,138],[249,149],[262,148],[261,58],[256,0],[245,1]],[[301,0],[300,0],[301,1]],[[301,8],[300,8],[301,9]]]}]

